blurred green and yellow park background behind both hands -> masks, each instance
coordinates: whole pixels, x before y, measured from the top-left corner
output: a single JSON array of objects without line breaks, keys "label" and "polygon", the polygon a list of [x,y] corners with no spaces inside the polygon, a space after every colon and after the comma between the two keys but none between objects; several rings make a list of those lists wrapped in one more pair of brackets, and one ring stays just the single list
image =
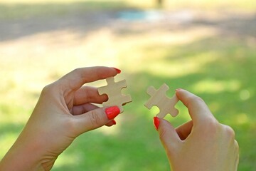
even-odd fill
[{"label": "blurred green and yellow park background behind both hands", "polygon": [[[133,103],[112,128],[85,133],[53,170],[169,170],[147,110],[148,86],[201,96],[240,144],[239,170],[256,170],[255,0],[0,0],[0,158],[41,89],[74,68],[114,66]],[[105,81],[92,83],[103,86]],[[175,126],[189,120],[181,103]]]}]

